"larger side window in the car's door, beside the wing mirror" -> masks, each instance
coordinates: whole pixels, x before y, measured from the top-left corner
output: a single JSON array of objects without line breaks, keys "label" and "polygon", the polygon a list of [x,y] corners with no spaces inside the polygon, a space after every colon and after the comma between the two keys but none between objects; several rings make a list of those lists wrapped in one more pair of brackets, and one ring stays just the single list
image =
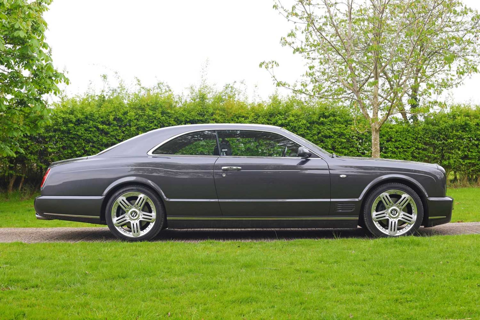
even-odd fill
[{"label": "larger side window in the car's door, beside the wing mirror", "polygon": [[297,157],[299,144],[276,133],[249,130],[218,131],[222,156]]}]

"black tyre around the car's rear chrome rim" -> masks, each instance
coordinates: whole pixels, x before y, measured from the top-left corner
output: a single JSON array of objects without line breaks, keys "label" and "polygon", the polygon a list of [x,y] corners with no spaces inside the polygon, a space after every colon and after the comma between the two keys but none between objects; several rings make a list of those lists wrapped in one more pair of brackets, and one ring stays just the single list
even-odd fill
[{"label": "black tyre around the car's rear chrome rim", "polygon": [[[150,232],[135,238],[128,237],[118,231],[117,228],[113,225],[111,217],[111,210],[116,199],[120,197],[120,195],[131,191],[137,191],[147,195],[150,199],[152,199],[152,202],[154,203],[156,209],[156,219],[154,222],[154,226],[152,227]],[[128,241],[150,240],[154,238],[163,228],[165,222],[165,208],[160,197],[150,188],[144,187],[142,185],[130,185],[120,188],[108,199],[107,206],[105,208],[105,220],[107,222],[108,229],[110,229],[110,232],[114,234],[117,238]]]}]

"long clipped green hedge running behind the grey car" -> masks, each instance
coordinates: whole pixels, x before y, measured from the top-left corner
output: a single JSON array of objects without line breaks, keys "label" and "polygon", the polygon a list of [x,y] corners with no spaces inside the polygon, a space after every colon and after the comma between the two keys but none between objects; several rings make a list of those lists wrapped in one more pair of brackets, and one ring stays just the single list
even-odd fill
[{"label": "long clipped green hedge running behind the grey car", "polygon": [[[42,134],[22,138],[24,154],[2,159],[3,187],[13,175],[27,176],[30,183],[38,184],[53,161],[93,155],[146,131],[188,123],[273,124],[338,155],[370,155],[370,133],[355,128],[348,109],[330,101],[295,97],[272,96],[260,103],[241,97],[232,87],[220,92],[192,90],[188,97],[179,97],[157,86],[135,93],[111,90],[66,98],[55,105],[51,124]],[[480,109],[456,106],[415,124],[385,123],[381,154],[383,158],[439,163],[452,176],[478,182],[479,138]]]}]

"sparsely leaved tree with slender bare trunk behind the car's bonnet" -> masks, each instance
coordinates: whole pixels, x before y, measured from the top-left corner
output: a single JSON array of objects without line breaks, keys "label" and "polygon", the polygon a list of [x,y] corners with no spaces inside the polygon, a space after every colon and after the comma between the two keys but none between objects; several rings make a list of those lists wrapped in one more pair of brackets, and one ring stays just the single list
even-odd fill
[{"label": "sparsely leaved tree with slender bare trunk behind the car's bonnet", "polygon": [[276,78],[277,62],[260,67],[277,86],[348,101],[372,133],[374,158],[391,115],[408,120],[443,106],[445,89],[478,72],[480,16],[460,0],[296,0],[274,8],[295,25],[281,44],[301,54],[307,70],[291,86]]}]

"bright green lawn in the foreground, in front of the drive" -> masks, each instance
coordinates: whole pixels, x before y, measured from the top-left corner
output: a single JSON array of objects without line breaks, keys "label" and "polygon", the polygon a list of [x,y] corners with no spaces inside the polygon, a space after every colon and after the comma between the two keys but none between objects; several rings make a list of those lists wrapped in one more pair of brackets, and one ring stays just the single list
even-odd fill
[{"label": "bright green lawn in the foreground, in front of the drive", "polygon": [[0,319],[479,319],[480,235],[0,244]]}]

